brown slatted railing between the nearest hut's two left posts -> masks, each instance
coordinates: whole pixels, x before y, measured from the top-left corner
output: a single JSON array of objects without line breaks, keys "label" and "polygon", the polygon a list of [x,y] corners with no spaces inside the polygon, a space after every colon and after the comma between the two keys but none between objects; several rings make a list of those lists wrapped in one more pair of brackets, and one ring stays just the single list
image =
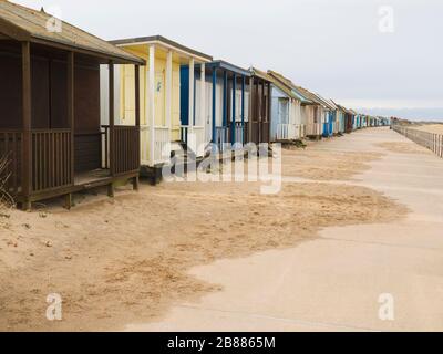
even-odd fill
[{"label": "brown slatted railing between the nearest hut's two left posts", "polygon": [[31,132],[33,192],[73,184],[71,139],[71,129],[34,129]]}]

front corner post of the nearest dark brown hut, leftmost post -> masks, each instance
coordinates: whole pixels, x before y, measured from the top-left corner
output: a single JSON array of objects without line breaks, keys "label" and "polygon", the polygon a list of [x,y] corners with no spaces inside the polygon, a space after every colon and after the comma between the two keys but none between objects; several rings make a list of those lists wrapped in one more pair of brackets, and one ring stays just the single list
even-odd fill
[{"label": "front corner post of the nearest dark brown hut, leftmost post", "polygon": [[24,210],[31,208],[31,191],[32,191],[32,157],[31,157],[31,118],[32,118],[32,102],[31,102],[31,43],[23,42],[22,52],[22,105],[23,105],[23,152],[22,152],[22,189]]}]

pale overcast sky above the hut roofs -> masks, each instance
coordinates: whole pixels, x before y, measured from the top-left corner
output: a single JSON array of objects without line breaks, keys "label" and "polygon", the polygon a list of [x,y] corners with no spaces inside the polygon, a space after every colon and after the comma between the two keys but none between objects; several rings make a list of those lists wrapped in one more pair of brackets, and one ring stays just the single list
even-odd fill
[{"label": "pale overcast sky above the hut roofs", "polygon": [[441,0],[13,0],[105,40],[162,34],[356,110],[443,121]]}]

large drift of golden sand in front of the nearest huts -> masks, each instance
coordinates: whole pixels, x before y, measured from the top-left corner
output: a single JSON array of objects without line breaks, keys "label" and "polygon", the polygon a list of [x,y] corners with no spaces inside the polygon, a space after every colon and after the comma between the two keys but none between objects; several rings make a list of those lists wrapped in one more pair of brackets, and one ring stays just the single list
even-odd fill
[{"label": "large drift of golden sand in front of the nearest huts", "polygon": [[[0,228],[0,330],[121,330],[164,316],[178,301],[220,291],[188,273],[195,266],[292,248],[327,227],[390,222],[408,209],[346,180],[381,155],[284,152],[286,183],[275,196],[259,184],[168,183],[119,190],[114,199],[78,197],[71,211],[9,210]],[[353,162],[353,163],[352,163]],[[339,166],[334,168],[333,166]],[[63,321],[45,319],[49,293]]]}]

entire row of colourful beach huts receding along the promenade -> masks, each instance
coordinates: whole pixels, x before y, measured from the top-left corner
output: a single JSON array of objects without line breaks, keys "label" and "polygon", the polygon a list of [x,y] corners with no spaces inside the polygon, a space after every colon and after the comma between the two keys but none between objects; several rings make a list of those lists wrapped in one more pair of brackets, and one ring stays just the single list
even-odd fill
[{"label": "entire row of colourful beach huts receding along the promenade", "polygon": [[163,37],[103,41],[0,1],[0,154],[4,190],[31,202],[154,175],[177,149],[295,142],[389,125]]}]

